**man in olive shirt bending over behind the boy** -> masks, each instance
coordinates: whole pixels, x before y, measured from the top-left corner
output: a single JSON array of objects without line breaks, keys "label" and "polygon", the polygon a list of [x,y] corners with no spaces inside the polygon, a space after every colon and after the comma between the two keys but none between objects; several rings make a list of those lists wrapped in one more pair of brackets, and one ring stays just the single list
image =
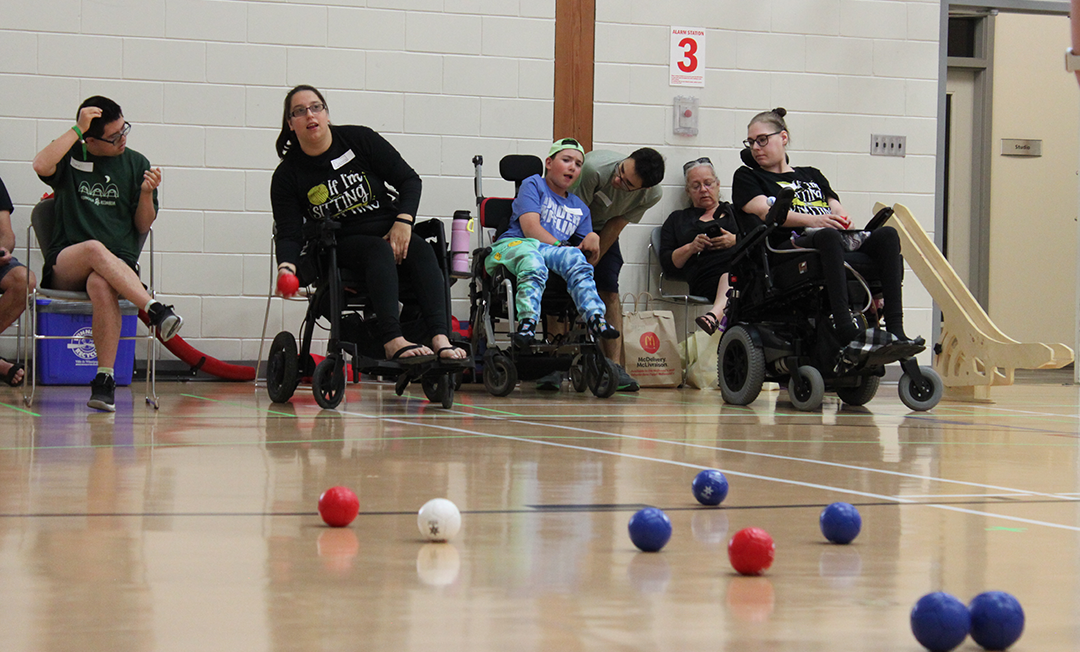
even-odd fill
[{"label": "man in olive shirt bending over behind the boy", "polygon": [[[593,273],[596,290],[607,307],[607,321],[622,330],[622,305],[619,300],[619,273],[622,252],[619,234],[626,225],[642,221],[645,212],[656,206],[664,191],[664,159],[657,150],[643,147],[629,157],[596,149],[585,154],[581,176],[571,192],[586,204],[593,216],[593,230],[600,236],[600,257]],[[619,365],[619,390],[636,392],[637,382],[622,367],[622,338],[604,340],[604,354]]]}]

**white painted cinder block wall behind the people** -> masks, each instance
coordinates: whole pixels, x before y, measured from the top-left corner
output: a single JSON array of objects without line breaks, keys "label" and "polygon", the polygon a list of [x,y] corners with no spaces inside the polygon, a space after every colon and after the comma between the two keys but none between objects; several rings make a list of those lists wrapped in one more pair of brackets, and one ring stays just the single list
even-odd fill
[{"label": "white painted cinder block wall behind the people", "polygon": [[[25,246],[48,188],[35,153],[89,95],[118,100],[130,147],[164,169],[157,286],[183,336],[225,359],[254,361],[270,283],[270,176],[282,99],[310,83],[332,120],[386,135],[424,180],[420,212],[473,208],[474,154],[500,194],[505,153],[545,153],[553,137],[554,0],[0,0],[0,177]],[[595,147],[658,148],[665,198],[625,233],[625,291],[646,279],[648,231],[683,205],[681,163],[710,155],[725,196],[757,111],[785,106],[793,163],[815,165],[868,217],[903,202],[932,226],[939,3],[685,0],[596,3]],[[667,85],[669,27],[707,28],[705,89]],[[701,134],[672,134],[675,95],[701,99]],[[868,155],[872,133],[907,136],[905,159]],[[562,136],[563,134],[559,134]],[[23,256],[23,254],[19,254]],[[31,257],[40,271],[40,257]],[[654,284],[653,284],[654,285]],[[930,300],[907,281],[913,331]],[[468,316],[464,284],[454,312]],[[302,307],[274,301],[270,332]],[[13,330],[0,351],[14,350]]]}]

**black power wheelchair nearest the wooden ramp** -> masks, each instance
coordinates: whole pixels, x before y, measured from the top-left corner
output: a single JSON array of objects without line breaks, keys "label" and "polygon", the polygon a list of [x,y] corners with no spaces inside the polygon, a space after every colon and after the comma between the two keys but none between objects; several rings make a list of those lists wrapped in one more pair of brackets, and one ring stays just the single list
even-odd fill
[{"label": "black power wheelchair nearest the wooden ramp", "polygon": [[[900,398],[913,410],[929,410],[941,400],[944,385],[931,367],[914,355],[921,343],[889,345],[879,330],[874,308],[879,289],[874,261],[858,250],[845,254],[852,314],[863,329],[873,329],[858,349],[837,339],[832,325],[821,261],[813,249],[774,249],[769,235],[783,225],[794,199],[785,188],[764,223],[742,229],[729,274],[728,329],[717,351],[717,376],[724,400],[747,405],[766,380],[787,384],[792,404],[800,410],[821,406],[826,391],[861,406],[874,398],[886,365],[899,362]],[[864,230],[873,231],[892,215],[879,212]]]}]

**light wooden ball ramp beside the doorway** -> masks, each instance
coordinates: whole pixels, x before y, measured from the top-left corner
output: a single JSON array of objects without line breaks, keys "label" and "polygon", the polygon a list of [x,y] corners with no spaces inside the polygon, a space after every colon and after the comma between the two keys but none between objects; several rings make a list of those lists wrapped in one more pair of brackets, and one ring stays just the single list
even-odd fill
[{"label": "light wooden ball ramp beside the doorway", "polygon": [[[874,212],[883,207],[879,203]],[[904,260],[944,317],[934,370],[947,398],[988,400],[991,386],[1013,383],[1015,369],[1059,369],[1072,362],[1065,344],[1017,342],[1001,332],[907,206],[895,204],[893,210],[887,223],[900,234]]]}]

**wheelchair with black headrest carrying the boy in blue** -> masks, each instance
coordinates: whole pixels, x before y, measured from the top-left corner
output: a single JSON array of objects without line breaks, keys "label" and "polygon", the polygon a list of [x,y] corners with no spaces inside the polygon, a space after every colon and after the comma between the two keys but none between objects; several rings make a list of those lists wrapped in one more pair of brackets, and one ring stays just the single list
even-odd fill
[{"label": "wheelchair with black headrest carrying the boy in blue", "polygon": [[[480,214],[480,247],[473,252],[472,281],[470,282],[470,324],[472,350],[483,354],[484,388],[494,396],[507,396],[514,391],[518,380],[535,380],[552,371],[568,371],[570,385],[578,392],[586,389],[599,398],[615,394],[619,370],[604,356],[599,343],[589,332],[577,313],[566,289],[566,282],[552,273],[540,302],[541,318],[538,324],[540,340],[522,345],[511,334],[517,330],[514,316],[514,279],[503,268],[495,274],[485,269],[490,244],[485,246],[485,231],[490,230],[491,242],[510,227],[513,216],[513,198],[488,198],[482,190],[484,158],[473,158],[475,169],[476,208]],[[499,162],[503,179],[514,182],[514,194],[522,181],[535,174],[543,174],[543,162],[534,155],[508,154]],[[566,325],[565,332],[552,332],[549,322]],[[500,328],[502,322],[505,328]]]}]

